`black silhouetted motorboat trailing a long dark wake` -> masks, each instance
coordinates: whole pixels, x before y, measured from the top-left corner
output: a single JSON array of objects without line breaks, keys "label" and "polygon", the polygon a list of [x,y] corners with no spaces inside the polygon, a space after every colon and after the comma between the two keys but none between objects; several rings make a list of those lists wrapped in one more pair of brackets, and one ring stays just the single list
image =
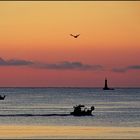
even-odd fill
[{"label": "black silhouetted motorboat trailing a long dark wake", "polygon": [[94,106],[91,106],[90,109],[85,108],[85,105],[76,105],[73,107],[74,111],[71,112],[71,115],[74,116],[91,116],[92,115],[92,111],[95,109]]}]

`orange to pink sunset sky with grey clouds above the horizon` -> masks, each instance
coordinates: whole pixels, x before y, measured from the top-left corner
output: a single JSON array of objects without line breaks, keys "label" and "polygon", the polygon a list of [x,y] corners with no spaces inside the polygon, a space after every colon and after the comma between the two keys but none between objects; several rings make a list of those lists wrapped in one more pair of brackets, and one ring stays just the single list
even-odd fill
[{"label": "orange to pink sunset sky with grey clouds above the horizon", "polygon": [[139,25],[139,1],[0,1],[0,87],[140,87]]}]

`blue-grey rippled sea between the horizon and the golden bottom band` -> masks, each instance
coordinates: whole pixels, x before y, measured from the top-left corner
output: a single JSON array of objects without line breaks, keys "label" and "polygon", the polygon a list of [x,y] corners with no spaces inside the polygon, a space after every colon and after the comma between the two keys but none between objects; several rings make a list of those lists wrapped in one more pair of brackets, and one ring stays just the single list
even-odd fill
[{"label": "blue-grey rippled sea between the horizon and the golden bottom band", "polygon": [[[140,126],[140,88],[0,88],[0,124]],[[69,115],[76,104],[95,106],[93,116]]]}]

